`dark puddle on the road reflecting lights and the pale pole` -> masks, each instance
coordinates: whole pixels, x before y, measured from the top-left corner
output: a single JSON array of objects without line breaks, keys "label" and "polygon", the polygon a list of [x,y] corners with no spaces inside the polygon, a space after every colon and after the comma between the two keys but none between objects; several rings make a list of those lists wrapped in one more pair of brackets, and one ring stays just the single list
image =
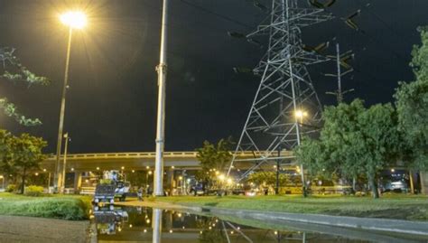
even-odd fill
[{"label": "dark puddle on the road reflecting lights and the pale pole", "polygon": [[94,219],[98,242],[427,242],[422,238],[397,238],[352,229],[284,222],[269,224],[254,220],[220,220],[218,217],[150,208],[98,209],[94,210]]}]

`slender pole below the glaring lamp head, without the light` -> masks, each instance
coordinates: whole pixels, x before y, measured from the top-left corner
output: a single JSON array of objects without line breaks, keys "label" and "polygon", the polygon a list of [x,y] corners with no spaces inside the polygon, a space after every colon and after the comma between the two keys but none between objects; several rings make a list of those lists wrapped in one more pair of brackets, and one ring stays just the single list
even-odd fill
[{"label": "slender pole below the glaring lamp head, without the light", "polygon": [[[58,127],[58,140],[57,140],[57,156],[55,161],[55,178],[53,182],[56,184],[56,188],[60,188],[61,174],[60,174],[60,151],[62,143],[62,130],[64,127],[64,113],[65,113],[65,97],[67,94],[67,86],[69,82],[69,63],[70,63],[70,50],[71,50],[71,38],[73,29],[69,29],[69,43],[67,45],[67,57],[65,60],[65,73],[64,73],[64,87],[62,87],[62,97],[60,102],[60,125]],[[54,184],[54,186],[55,186]]]}]

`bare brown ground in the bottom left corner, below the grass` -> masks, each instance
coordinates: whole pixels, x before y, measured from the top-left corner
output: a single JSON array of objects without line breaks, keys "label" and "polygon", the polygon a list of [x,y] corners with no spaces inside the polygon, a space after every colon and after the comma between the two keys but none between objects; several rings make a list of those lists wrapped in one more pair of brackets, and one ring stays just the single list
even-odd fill
[{"label": "bare brown ground in the bottom left corner, below the grass", "polygon": [[0,216],[0,242],[88,242],[89,221]]}]

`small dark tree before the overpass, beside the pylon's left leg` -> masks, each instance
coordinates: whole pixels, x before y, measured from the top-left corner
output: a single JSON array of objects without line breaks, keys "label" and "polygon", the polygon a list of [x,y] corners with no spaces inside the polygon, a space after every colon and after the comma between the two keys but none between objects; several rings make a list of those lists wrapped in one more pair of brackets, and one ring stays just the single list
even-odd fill
[{"label": "small dark tree before the overpass, beside the pylon's left leg", "polygon": [[196,149],[197,158],[200,161],[201,171],[197,173],[199,180],[209,182],[216,172],[221,172],[232,161],[230,152],[233,142],[228,139],[220,139],[217,145],[204,141],[201,148]]}]

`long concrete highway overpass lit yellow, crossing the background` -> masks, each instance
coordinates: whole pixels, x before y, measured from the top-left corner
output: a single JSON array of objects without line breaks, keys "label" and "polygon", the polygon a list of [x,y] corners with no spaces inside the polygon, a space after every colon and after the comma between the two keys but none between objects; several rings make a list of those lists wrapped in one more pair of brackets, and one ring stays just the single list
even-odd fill
[{"label": "long concrete highway overpass lit yellow, crossing the background", "polygon": [[[197,152],[165,152],[163,154],[164,181],[171,187],[181,185],[180,177],[187,172],[198,171],[201,169],[197,158]],[[288,151],[283,152],[284,156],[292,156]],[[282,155],[283,155],[282,154]],[[256,161],[254,158],[260,158],[259,154],[253,152],[244,152],[238,154],[239,162],[234,166],[237,170],[246,170],[252,167]],[[41,163],[43,173],[53,173],[55,170],[55,156],[51,156]],[[130,152],[130,153],[106,153],[106,154],[67,154],[66,158],[66,185],[74,190],[85,187],[93,187],[95,173],[102,171],[117,170],[125,173],[136,171],[153,171],[155,153],[153,152]],[[62,165],[64,157],[60,157]],[[272,165],[265,164],[266,167]],[[272,167],[270,167],[272,169]]]}]

